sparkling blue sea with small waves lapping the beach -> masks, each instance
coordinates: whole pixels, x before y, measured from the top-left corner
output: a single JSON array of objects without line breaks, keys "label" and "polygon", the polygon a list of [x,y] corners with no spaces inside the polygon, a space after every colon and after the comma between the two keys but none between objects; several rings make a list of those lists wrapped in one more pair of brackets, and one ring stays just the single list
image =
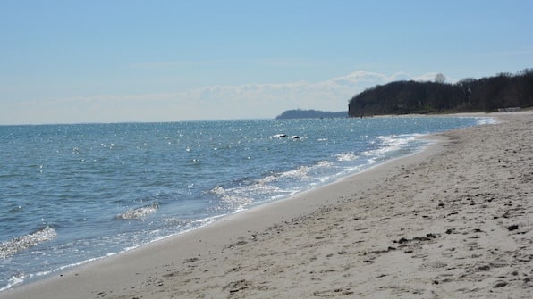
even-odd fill
[{"label": "sparkling blue sea with small waves lapping the beach", "polygon": [[0,291],[421,151],[476,117],[0,126]]}]

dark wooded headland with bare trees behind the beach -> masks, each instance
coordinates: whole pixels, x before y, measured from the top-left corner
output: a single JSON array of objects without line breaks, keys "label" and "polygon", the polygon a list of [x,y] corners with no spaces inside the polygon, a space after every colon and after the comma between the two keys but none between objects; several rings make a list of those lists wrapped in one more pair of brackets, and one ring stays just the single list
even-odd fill
[{"label": "dark wooded headland with bare trees behind the beach", "polygon": [[444,83],[395,81],[366,89],[348,104],[351,117],[432,112],[493,112],[533,106],[533,69]]}]

